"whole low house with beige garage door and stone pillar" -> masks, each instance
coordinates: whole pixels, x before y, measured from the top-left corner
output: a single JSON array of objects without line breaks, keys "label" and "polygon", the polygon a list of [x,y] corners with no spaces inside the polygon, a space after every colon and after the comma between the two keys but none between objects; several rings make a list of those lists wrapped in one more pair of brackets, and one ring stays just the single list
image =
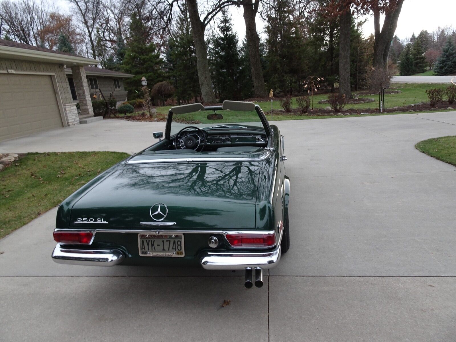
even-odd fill
[{"label": "whole low house with beige garage door and stone pillar", "polygon": [[98,63],[0,40],[0,141],[98,119],[92,109],[95,93],[113,93],[123,101],[123,80],[131,75],[96,68]]}]

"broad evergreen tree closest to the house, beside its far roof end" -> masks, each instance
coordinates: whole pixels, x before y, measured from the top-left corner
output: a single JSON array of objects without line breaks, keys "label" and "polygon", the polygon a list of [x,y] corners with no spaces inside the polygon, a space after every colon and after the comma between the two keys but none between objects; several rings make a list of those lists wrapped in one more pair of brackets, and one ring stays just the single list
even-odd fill
[{"label": "broad evergreen tree closest to the house, beside its far roof end", "polygon": [[[164,80],[163,60],[153,41],[147,42],[147,29],[144,23],[134,14],[130,23],[130,41],[128,41],[122,71],[135,76],[126,78],[125,89],[129,98],[142,96],[141,78],[145,77],[151,88],[155,83]],[[136,93],[138,91],[138,93]]]}]

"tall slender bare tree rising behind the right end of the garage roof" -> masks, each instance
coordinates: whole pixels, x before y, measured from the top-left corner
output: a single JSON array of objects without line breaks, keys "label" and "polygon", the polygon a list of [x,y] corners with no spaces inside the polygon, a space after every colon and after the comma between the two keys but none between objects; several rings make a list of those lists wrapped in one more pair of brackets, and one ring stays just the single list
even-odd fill
[{"label": "tall slender bare tree rising behind the right end of the garage roof", "polygon": [[68,0],[81,20],[93,59],[97,58],[95,34],[101,17],[101,0]]}]

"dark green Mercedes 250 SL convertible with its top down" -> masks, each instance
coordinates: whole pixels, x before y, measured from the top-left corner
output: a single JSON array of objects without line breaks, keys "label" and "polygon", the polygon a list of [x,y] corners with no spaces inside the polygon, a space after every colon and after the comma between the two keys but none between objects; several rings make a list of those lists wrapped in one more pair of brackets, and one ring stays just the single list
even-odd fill
[{"label": "dark green Mercedes 250 SL convertible with its top down", "polygon": [[52,259],[245,269],[244,285],[261,287],[290,247],[279,129],[258,105],[224,101],[172,107],[153,136],[62,202]]}]

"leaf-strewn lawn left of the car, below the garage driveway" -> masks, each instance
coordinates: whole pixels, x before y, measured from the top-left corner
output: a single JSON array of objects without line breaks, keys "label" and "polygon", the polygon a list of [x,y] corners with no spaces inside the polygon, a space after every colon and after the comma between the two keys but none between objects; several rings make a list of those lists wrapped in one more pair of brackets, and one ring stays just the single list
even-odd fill
[{"label": "leaf-strewn lawn left of the car, below the garage driveway", "polygon": [[25,155],[0,172],[0,238],[57,206],[83,184],[127,156],[119,152]]}]

